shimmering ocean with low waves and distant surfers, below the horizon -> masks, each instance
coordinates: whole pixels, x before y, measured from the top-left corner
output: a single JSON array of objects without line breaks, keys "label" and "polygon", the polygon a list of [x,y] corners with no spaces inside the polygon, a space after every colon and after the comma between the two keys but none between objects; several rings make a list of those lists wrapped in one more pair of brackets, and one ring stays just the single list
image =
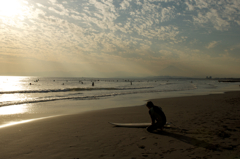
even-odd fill
[{"label": "shimmering ocean with low waves and distant surfers, below the horizon", "polygon": [[[239,83],[193,78],[66,78],[0,76],[0,124],[143,105],[153,98],[223,93]],[[9,119],[9,120],[8,120]]]}]

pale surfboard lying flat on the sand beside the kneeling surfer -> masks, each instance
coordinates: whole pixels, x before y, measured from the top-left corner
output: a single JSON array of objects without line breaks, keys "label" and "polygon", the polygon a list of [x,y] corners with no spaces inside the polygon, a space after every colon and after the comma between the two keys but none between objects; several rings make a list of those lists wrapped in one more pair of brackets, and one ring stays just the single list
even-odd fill
[{"label": "pale surfboard lying flat on the sand beside the kneeling surfer", "polygon": [[[130,127],[130,128],[146,128],[151,125],[151,123],[112,123],[109,122],[109,124],[112,124],[117,127]],[[171,127],[170,123],[167,122],[164,127],[169,128]]]}]

